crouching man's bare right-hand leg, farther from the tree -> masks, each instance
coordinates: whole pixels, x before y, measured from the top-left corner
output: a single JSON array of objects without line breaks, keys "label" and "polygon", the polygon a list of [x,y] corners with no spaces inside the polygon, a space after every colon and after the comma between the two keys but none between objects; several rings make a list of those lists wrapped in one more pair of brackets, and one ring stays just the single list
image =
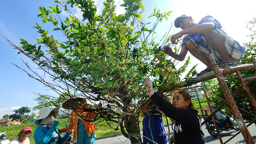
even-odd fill
[{"label": "crouching man's bare right-hand leg, farther from the tree", "polygon": [[203,35],[207,43],[221,55],[222,62],[220,63],[219,66],[224,66],[224,65],[229,65],[234,63],[225,48],[225,44],[223,42],[221,35],[218,35],[212,31],[203,33]]}]

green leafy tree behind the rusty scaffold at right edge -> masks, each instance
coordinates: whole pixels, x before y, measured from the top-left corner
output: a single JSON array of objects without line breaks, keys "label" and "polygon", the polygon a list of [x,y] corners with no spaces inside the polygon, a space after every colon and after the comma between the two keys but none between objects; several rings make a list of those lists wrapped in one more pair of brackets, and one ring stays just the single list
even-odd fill
[{"label": "green leafy tree behind the rusty scaffold at right edge", "polygon": [[[238,64],[248,64],[251,62],[255,62],[255,58],[256,58],[256,55],[255,55],[255,48],[256,48],[255,26],[256,26],[256,19],[253,18],[251,21],[248,22],[248,25],[247,25],[247,27],[252,32],[251,35],[248,35],[248,37],[250,37],[251,40],[244,44],[246,51],[243,54],[242,59]],[[255,73],[256,73],[256,69],[248,69],[248,70],[241,71],[241,74],[244,78],[253,77],[253,76],[255,76]],[[238,88],[241,87],[241,83],[238,80],[236,74],[225,75],[224,78],[226,79],[226,83],[227,83],[228,88],[231,93],[235,92]],[[206,89],[208,91],[213,91],[213,94],[215,94],[225,100],[225,96],[224,96],[224,94],[221,90],[221,87],[218,84],[218,81],[216,79],[208,80],[208,81],[204,82],[204,85],[206,86]],[[247,86],[248,86],[252,96],[256,100],[256,82],[251,81]],[[239,94],[237,94],[234,97],[234,100],[236,102],[236,105],[239,108],[242,108],[254,115],[256,114],[255,110],[253,109],[253,107],[249,101],[249,98],[247,97],[247,95],[244,91],[241,91]],[[221,101],[220,99],[218,99],[217,97],[214,97],[214,96],[210,98],[210,102],[215,107],[218,107],[219,105],[221,105],[223,103],[223,101]],[[230,112],[228,104],[225,105],[224,109],[226,112]],[[254,119],[250,114],[245,113],[244,111],[240,111],[240,112],[244,119],[246,119],[248,121],[251,121]]]}]

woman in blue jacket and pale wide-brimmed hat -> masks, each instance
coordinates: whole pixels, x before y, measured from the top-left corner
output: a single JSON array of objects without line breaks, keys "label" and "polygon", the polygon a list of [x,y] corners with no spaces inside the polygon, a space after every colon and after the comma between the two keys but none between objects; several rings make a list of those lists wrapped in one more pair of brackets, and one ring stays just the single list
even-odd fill
[{"label": "woman in blue jacket and pale wide-brimmed hat", "polygon": [[57,117],[59,109],[42,108],[39,111],[39,118],[35,120],[35,124],[39,125],[34,131],[34,139],[36,144],[63,144],[72,133],[70,130],[66,132],[64,137],[60,136],[57,129],[59,121],[54,121]]}]

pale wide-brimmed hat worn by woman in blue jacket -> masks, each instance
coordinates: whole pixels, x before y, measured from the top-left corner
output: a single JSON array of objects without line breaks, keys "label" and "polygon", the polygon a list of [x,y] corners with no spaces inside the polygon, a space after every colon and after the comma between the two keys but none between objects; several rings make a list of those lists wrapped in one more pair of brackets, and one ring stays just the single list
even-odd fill
[{"label": "pale wide-brimmed hat worn by woman in blue jacket", "polygon": [[54,109],[42,108],[39,111],[39,118],[36,119],[34,123],[36,125],[40,125],[42,119],[46,118],[50,114],[51,111],[53,112],[54,117],[58,116],[58,114],[59,114],[59,109],[58,108],[54,108]]}]

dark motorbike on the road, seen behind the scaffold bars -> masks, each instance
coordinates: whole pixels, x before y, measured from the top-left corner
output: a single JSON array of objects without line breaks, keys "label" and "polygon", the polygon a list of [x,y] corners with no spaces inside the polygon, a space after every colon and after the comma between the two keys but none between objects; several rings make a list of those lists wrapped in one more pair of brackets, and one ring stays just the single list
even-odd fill
[{"label": "dark motorbike on the road, seen behind the scaffold bars", "polygon": [[[229,127],[226,127],[227,122],[225,121],[225,119],[216,119],[215,118],[218,130],[220,133],[223,131],[230,131],[230,130],[238,131],[238,130],[240,130],[236,121],[234,120],[234,118],[232,116],[230,116],[229,119],[230,119]],[[209,128],[207,128],[207,126],[206,126],[206,129],[210,133],[210,135],[217,137],[218,135],[217,135],[217,131],[216,131],[213,119],[212,118],[209,119],[209,121],[206,122],[206,124],[209,126]]]}]

